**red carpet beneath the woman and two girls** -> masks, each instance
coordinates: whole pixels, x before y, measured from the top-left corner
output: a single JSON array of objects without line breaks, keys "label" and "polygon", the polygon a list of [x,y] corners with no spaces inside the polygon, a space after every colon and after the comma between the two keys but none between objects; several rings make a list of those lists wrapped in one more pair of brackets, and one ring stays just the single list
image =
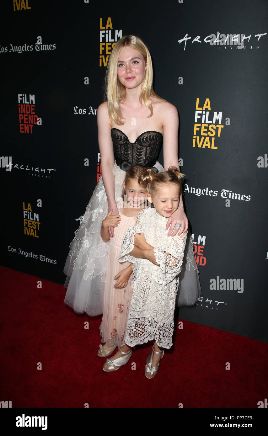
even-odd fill
[{"label": "red carpet beneath the woman and two girls", "polygon": [[12,401],[13,408],[83,408],[85,403],[90,408],[178,408],[179,403],[257,408],[267,398],[268,345],[263,342],[183,321],[156,378],[144,375],[148,345],[138,347],[120,370],[105,373],[105,359],[96,354],[101,317],[77,315],[65,306],[63,286],[41,280],[38,289],[34,276],[0,271],[0,401]]}]

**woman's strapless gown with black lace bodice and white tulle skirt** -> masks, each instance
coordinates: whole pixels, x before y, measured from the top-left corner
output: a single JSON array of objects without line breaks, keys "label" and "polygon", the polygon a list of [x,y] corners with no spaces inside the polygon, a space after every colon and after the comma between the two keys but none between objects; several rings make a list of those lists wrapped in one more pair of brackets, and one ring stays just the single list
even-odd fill
[{"label": "woman's strapless gown with black lace bodice and white tulle skirt", "polygon": [[[126,170],[131,165],[146,165],[155,172],[164,171],[157,157],[163,142],[159,132],[148,131],[131,143],[120,129],[111,129],[114,151],[115,200],[119,201]],[[100,237],[101,223],[108,213],[102,177],[93,191],[79,228],[70,244],[64,273],[67,276],[65,304],[76,313],[89,316],[103,313],[107,254],[110,242]],[[182,270],[179,274],[177,306],[191,306],[201,295],[199,272],[188,232]]]}]

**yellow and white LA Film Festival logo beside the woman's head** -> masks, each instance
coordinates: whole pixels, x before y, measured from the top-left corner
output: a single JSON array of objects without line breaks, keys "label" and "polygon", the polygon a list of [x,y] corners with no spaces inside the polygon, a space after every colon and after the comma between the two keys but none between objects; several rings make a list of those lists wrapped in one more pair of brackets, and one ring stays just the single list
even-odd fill
[{"label": "yellow and white LA Film Festival logo beside the woman's head", "polygon": [[112,49],[122,35],[122,29],[113,29],[111,17],[107,18],[106,24],[100,18],[100,67],[107,67]]}]

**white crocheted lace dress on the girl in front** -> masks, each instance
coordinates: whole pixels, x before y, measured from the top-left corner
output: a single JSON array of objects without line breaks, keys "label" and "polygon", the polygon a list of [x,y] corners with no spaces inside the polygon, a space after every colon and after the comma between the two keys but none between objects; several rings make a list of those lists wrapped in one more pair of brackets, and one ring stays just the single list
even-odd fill
[{"label": "white crocheted lace dress on the girl in front", "polygon": [[[133,263],[134,289],[124,337],[130,347],[153,339],[158,347],[172,346],[178,275],[182,269],[187,232],[168,236],[167,221],[168,218],[158,215],[155,208],[143,209],[123,238],[118,260]],[[130,254],[136,233],[143,233],[148,244],[155,247],[155,259],[160,266]]]}]

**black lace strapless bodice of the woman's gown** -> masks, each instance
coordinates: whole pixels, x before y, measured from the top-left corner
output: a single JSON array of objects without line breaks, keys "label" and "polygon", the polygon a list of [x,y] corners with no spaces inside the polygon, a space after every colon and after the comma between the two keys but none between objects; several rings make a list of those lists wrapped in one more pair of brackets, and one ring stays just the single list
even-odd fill
[{"label": "black lace strapless bodice of the woman's gown", "polygon": [[156,161],[161,149],[163,135],[160,132],[141,133],[135,142],[130,142],[120,129],[111,129],[114,157],[131,165],[146,165]]}]

